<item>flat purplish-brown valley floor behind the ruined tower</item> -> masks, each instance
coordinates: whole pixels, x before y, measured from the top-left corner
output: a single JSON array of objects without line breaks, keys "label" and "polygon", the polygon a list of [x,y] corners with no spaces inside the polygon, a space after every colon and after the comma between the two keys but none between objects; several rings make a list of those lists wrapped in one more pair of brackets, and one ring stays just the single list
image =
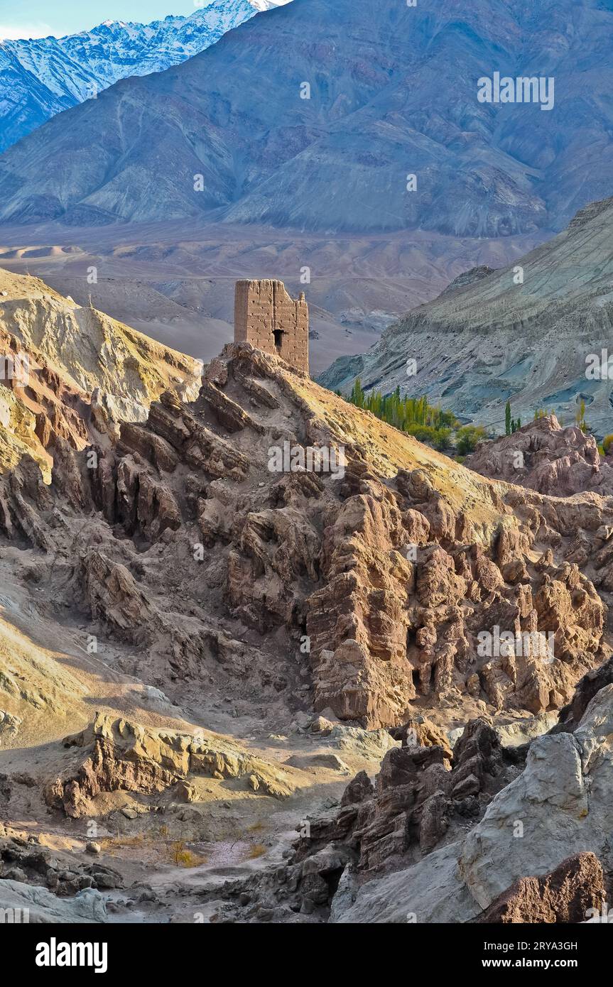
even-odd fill
[{"label": "flat purplish-brown valley floor behind the ruined tower", "polygon": [[[158,342],[207,361],[233,337],[234,283],[281,278],[311,313],[311,373],[361,353],[391,322],[476,265],[501,266],[547,233],[499,240],[407,234],[322,236],[226,223],[96,228],[0,226],[0,265]],[[310,282],[301,280],[304,268]],[[92,282],[92,269],[97,282]]]}]

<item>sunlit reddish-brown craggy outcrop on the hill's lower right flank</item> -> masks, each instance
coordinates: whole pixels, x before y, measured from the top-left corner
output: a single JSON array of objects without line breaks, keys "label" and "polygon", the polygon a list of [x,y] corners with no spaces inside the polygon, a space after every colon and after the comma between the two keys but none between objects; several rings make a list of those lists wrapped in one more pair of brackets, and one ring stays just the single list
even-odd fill
[{"label": "sunlit reddish-brown craggy outcrop on the hill's lower right flank", "polygon": [[[348,497],[327,532],[327,581],[307,601],[316,709],[392,725],[419,695],[453,690],[485,693],[498,709],[559,708],[601,646],[605,607],[594,586],[553,555],[534,564],[529,527],[501,526],[492,557],[456,540],[450,506],[441,509],[417,472],[399,475],[406,498],[363,481],[370,495]],[[480,635],[496,628],[517,645],[480,660]]]}]

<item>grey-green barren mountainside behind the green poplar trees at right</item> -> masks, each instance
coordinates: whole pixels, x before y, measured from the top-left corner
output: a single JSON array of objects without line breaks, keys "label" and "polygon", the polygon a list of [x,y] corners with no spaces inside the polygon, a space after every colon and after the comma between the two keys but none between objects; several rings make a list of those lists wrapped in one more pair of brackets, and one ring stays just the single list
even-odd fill
[{"label": "grey-green barren mountainside behind the green poplar trees at right", "polygon": [[[569,228],[519,262],[462,275],[413,309],[367,353],[341,357],[320,381],[427,394],[467,420],[525,423],[544,408],[575,421],[580,401],[599,436],[611,430],[613,199],[592,202]],[[607,348],[608,347],[608,348]],[[407,360],[417,360],[408,375]],[[409,368],[413,369],[409,364]]]}]

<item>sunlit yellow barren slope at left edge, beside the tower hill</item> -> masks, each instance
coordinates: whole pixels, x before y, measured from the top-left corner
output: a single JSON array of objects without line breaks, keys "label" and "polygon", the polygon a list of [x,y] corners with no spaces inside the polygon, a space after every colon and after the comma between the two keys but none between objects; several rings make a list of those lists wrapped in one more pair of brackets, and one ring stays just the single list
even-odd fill
[{"label": "sunlit yellow barren slope at left edge, beside the tower hill", "polygon": [[92,428],[146,418],[162,391],[191,397],[199,386],[192,357],[5,270],[0,358],[2,470],[29,452],[48,475],[57,435],[83,448]]}]

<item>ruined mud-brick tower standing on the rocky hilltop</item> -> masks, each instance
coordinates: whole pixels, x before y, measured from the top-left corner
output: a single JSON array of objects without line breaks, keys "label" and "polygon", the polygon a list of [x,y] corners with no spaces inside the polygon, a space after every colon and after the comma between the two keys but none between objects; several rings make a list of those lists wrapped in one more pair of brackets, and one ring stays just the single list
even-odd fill
[{"label": "ruined mud-brick tower standing on the rocky hilltop", "polygon": [[308,373],[309,308],[304,293],[296,300],[282,281],[237,281],[234,342],[251,342]]}]

